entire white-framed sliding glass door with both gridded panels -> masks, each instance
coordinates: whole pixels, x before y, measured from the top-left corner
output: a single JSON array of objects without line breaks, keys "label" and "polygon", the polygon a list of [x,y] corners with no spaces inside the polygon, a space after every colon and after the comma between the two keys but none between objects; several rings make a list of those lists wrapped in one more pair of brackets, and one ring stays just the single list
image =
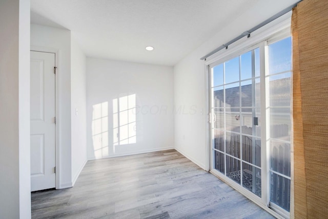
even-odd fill
[{"label": "entire white-framed sliding glass door with both gridded panels", "polygon": [[210,64],[209,76],[211,171],[288,213],[291,38]]}]

